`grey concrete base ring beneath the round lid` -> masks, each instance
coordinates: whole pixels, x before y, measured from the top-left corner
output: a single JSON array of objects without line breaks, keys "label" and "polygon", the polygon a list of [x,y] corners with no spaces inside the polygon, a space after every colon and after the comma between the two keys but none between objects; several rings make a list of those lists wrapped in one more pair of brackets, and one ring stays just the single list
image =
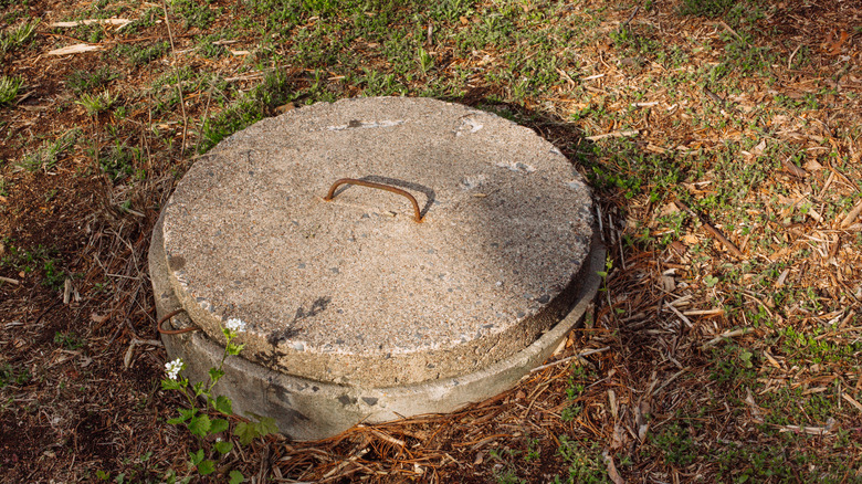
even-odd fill
[{"label": "grey concrete base ring beneath the round lid", "polygon": [[[154,229],[149,254],[159,318],[181,307],[168,280],[161,222],[159,219]],[[361,388],[278,373],[240,356],[228,358],[225,377],[214,392],[231,398],[239,414],[253,411],[274,418],[282,433],[299,441],[332,436],[360,422],[458,410],[507,390],[551,355],[592,303],[601,284],[598,272],[605,267],[605,256],[598,230],[593,230],[589,255],[575,276],[581,284],[568,315],[522,351],[482,370],[416,385]],[[191,325],[185,315],[175,320],[180,323],[174,325],[177,328]],[[222,346],[200,333],[162,335],[162,341],[171,357],[183,358],[192,381],[206,380],[207,371],[223,351]]]}]

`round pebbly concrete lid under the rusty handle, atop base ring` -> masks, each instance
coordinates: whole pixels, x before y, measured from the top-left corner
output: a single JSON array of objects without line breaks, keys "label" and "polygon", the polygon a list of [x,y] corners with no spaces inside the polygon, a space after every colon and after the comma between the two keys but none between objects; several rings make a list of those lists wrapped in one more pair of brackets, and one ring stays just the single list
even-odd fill
[{"label": "round pebbly concrete lid under the rusty handle, atop base ring", "polygon": [[[340,178],[404,189],[395,193]],[[243,356],[317,381],[464,375],[565,314],[591,240],[589,190],[532,130],[424,98],[315,104],[222,141],[164,213],[170,283]]]}]

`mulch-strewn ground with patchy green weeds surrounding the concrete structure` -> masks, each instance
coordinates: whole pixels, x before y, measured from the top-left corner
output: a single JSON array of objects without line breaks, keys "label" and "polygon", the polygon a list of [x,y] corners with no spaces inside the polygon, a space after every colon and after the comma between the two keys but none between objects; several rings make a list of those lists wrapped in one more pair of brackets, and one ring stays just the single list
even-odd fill
[{"label": "mulch-strewn ground with patchy green weeds surrounding the concrete structure", "polygon": [[[0,59],[1,482],[862,481],[858,2],[0,0]],[[146,261],[172,187],[370,95],[559,147],[609,249],[595,311],[451,415],[230,450],[168,423]]]}]

